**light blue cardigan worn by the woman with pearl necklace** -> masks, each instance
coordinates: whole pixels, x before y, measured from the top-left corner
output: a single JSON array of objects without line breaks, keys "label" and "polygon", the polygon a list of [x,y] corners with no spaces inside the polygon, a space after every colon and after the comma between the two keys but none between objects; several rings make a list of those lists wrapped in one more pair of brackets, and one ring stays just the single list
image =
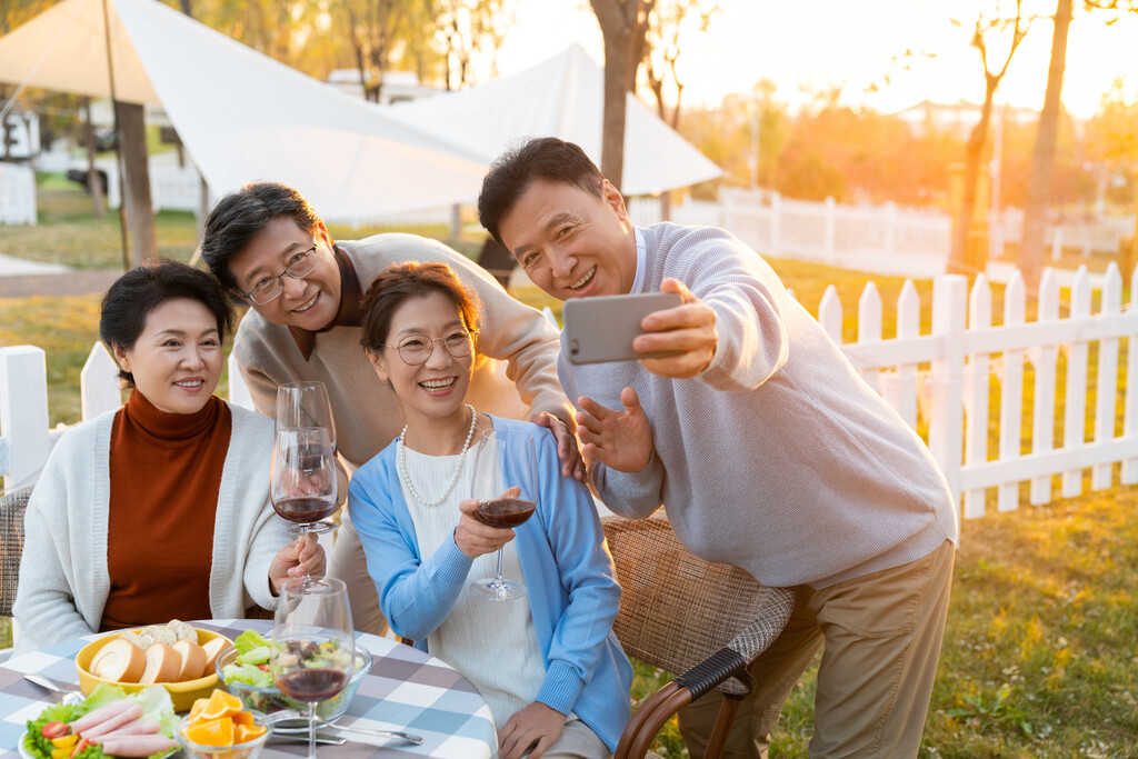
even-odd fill
[{"label": "light blue cardigan worn by the woman with pearl necklace", "polygon": [[[537,443],[537,510],[514,528],[545,657],[545,679],[534,700],[575,712],[616,750],[630,716],[632,666],[612,633],[620,586],[592,496],[582,482],[560,475],[556,443],[547,430],[490,419],[497,429],[530,429]],[[426,651],[427,636],[464,591],[472,560],[453,538],[432,555],[420,555],[395,452],[391,443],[353,475],[348,509],[387,621]]]}]

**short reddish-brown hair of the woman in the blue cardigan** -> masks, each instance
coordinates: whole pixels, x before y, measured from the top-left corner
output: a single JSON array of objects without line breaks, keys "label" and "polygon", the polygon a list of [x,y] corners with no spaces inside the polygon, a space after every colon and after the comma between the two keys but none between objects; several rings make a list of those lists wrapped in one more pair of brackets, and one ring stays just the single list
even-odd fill
[{"label": "short reddish-brown hair of the woman in the blue cardigan", "polygon": [[391,319],[403,303],[432,292],[445,296],[459,311],[459,317],[477,344],[478,296],[459,281],[454,270],[437,262],[405,261],[389,265],[371,281],[363,298],[363,337],[360,345],[371,353],[387,344]]}]

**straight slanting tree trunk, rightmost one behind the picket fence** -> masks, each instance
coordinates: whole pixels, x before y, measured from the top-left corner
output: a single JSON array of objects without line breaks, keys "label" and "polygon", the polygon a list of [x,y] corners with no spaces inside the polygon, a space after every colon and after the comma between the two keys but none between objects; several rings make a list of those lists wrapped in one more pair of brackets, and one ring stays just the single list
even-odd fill
[{"label": "straight slanting tree trunk, rightmost one behind the picket fence", "polygon": [[1031,154],[1031,175],[1028,181],[1028,206],[1023,214],[1020,236],[1019,265],[1028,292],[1039,289],[1044,262],[1044,224],[1052,195],[1052,171],[1055,167],[1055,142],[1059,130],[1059,107],[1063,96],[1063,72],[1066,68],[1066,40],[1071,28],[1072,0],[1058,0],[1055,9],[1055,31],[1052,34],[1052,63],[1047,69],[1047,93],[1039,115],[1036,147]]}]

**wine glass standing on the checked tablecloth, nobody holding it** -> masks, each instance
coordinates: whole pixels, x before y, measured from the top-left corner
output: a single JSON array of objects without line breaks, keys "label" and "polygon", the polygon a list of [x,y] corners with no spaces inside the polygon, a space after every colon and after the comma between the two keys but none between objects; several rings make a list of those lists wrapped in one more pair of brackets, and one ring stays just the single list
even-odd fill
[{"label": "wine glass standing on the checked tablecloth, nobody holding it", "polygon": [[277,687],[308,703],[308,757],[316,756],[316,704],[337,695],[355,669],[348,591],[329,578],[315,586],[290,580],[273,616],[269,668]]}]

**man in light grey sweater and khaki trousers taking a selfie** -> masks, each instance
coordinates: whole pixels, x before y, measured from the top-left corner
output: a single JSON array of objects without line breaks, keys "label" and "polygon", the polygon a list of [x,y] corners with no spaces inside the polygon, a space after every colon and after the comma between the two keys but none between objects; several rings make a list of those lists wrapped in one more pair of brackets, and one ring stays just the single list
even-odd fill
[{"label": "man in light grey sweater and khaki trousers taking a selfie", "polygon": [[[663,505],[693,553],[794,587],[752,665],[729,757],[765,757],[824,646],[811,756],[915,757],[948,608],[956,508],[924,443],[857,374],[753,250],[714,228],[635,228],[580,148],[538,138],[501,156],[483,225],[567,300],[674,292],[643,319],[637,362],[559,358],[591,485],[612,511]],[[584,307],[585,304],[582,304]],[[718,692],[681,712],[702,757]]]}]

